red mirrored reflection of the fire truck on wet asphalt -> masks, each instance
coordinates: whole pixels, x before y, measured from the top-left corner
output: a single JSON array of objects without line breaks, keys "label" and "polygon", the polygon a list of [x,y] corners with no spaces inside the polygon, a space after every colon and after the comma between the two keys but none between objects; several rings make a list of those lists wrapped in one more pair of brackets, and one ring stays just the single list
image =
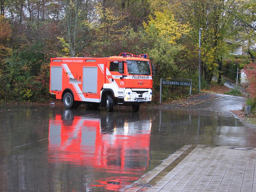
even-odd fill
[{"label": "red mirrored reflection of the fire truck on wet asphalt", "polygon": [[145,173],[150,129],[149,119],[73,116],[65,110],[50,119],[48,160],[92,167],[101,172],[92,186],[118,190]]}]

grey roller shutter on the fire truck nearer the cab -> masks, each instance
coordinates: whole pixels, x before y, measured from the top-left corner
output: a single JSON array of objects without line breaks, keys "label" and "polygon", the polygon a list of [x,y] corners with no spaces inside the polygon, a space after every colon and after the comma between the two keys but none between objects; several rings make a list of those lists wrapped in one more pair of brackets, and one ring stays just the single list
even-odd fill
[{"label": "grey roller shutter on the fire truck nearer the cab", "polygon": [[97,93],[98,68],[84,67],[83,71],[83,92]]}]

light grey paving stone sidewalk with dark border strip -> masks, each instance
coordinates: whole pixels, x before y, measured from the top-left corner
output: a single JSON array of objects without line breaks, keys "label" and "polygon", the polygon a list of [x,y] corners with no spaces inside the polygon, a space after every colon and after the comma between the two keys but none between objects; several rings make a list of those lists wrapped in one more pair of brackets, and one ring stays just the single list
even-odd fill
[{"label": "light grey paving stone sidewalk with dark border strip", "polygon": [[126,192],[256,192],[255,148],[187,145]]}]

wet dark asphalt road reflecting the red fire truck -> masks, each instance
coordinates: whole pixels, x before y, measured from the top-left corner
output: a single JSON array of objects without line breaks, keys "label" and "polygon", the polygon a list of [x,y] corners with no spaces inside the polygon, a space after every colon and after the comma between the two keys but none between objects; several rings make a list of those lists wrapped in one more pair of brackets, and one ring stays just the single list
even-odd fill
[{"label": "wet dark asphalt road reflecting the red fire truck", "polygon": [[0,191],[124,190],[186,144],[256,147],[219,98],[183,109],[0,104]]}]

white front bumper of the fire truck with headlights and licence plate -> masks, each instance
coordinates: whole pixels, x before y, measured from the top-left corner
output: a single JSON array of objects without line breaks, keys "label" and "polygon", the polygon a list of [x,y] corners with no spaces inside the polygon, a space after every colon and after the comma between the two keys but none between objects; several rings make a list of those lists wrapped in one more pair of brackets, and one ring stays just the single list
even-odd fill
[{"label": "white front bumper of the fire truck with headlights and licence plate", "polygon": [[152,100],[151,89],[125,89],[124,101],[125,102],[147,102]]}]

